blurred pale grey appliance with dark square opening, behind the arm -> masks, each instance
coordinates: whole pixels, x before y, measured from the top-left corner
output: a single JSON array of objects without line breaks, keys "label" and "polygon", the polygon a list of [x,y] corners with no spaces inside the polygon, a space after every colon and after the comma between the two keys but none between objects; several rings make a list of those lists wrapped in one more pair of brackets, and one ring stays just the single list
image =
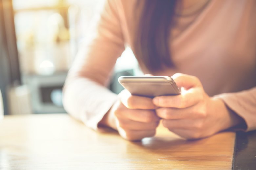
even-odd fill
[{"label": "blurred pale grey appliance with dark square opening, behind the arm", "polygon": [[33,113],[65,113],[62,105],[62,88],[66,72],[53,75],[26,75],[23,82],[31,93]]}]

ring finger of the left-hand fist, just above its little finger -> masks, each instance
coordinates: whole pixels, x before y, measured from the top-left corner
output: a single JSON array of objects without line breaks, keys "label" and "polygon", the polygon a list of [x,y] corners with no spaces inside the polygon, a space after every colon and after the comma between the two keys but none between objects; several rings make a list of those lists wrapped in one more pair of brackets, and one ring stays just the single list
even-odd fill
[{"label": "ring finger of the left-hand fist, just above its little finger", "polygon": [[144,122],[137,122],[137,121],[132,121],[132,120],[123,120],[119,119],[119,127],[125,129],[125,130],[154,130],[157,128],[159,122],[149,122],[149,123],[144,123]]}]

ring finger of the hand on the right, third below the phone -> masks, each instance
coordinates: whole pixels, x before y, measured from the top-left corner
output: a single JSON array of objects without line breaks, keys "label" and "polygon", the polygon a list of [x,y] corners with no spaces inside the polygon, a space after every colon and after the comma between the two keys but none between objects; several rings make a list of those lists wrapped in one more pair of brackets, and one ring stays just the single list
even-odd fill
[{"label": "ring finger of the hand on the right, third below the phone", "polygon": [[179,119],[179,120],[163,120],[162,124],[169,130],[174,129],[187,129],[187,130],[201,130],[203,123],[201,121],[195,121],[190,119]]}]

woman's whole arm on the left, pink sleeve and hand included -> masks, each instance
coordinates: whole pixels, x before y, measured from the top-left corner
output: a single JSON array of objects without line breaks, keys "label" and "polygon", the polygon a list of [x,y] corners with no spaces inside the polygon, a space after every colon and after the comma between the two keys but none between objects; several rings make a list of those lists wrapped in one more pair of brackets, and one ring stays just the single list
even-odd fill
[{"label": "woman's whole arm on the left, pink sleeve and hand included", "polygon": [[[118,97],[104,87],[116,59],[124,50],[124,38],[114,0],[106,3],[100,22],[85,48],[79,52],[64,86],[64,107],[69,114],[95,130],[118,130],[127,140],[154,136],[159,118],[151,98]],[[117,1],[120,3],[121,1]]]}]

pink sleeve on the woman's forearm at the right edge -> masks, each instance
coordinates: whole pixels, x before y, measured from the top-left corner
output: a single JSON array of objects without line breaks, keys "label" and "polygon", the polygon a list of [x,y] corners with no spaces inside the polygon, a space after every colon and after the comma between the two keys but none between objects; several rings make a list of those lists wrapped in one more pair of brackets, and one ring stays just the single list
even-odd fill
[{"label": "pink sleeve on the woman's forearm at the right edge", "polygon": [[215,97],[222,99],[231,110],[245,120],[246,131],[256,129],[256,87],[241,92],[224,93]]}]

